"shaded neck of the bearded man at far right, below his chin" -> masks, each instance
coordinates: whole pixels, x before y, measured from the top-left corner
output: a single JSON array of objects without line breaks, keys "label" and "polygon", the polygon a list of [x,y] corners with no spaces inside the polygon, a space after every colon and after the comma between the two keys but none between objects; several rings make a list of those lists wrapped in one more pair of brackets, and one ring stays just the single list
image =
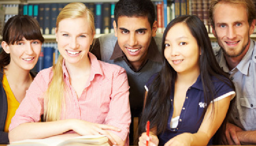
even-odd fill
[{"label": "shaded neck of the bearded man at far right, below his chin", "polygon": [[232,70],[239,64],[239,62],[242,60],[242,58],[246,55],[247,51],[249,50],[249,47],[250,47],[250,41],[246,46],[246,49],[242,52],[242,54],[237,57],[229,57],[224,54],[229,70]]}]

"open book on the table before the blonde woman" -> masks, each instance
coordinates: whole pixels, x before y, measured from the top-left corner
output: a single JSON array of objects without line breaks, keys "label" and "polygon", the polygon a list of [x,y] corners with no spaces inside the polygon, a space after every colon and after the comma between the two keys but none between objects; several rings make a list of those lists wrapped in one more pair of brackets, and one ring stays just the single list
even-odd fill
[{"label": "open book on the table before the blonde woman", "polygon": [[78,136],[68,140],[34,139],[13,142],[7,146],[109,146],[108,138],[103,135]]}]

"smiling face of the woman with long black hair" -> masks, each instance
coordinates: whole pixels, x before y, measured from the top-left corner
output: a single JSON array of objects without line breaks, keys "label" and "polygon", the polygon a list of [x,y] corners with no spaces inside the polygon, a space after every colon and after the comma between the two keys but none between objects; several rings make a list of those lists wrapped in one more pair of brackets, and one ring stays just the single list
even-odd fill
[{"label": "smiling face of the woman with long black hair", "polygon": [[177,23],[167,32],[164,57],[177,74],[199,72],[200,52],[196,39],[184,23]]}]

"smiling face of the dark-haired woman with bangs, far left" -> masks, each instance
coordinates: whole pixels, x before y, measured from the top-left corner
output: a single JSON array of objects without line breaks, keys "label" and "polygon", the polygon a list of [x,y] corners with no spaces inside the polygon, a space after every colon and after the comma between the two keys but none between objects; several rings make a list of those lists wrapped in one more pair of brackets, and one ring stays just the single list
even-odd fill
[{"label": "smiling face of the dark-haired woman with bangs, far left", "polygon": [[2,45],[4,45],[4,51],[10,53],[9,65],[31,70],[38,61],[42,44],[39,40],[27,40],[23,37],[22,40],[15,42],[14,45],[7,45],[6,42],[2,42]]}]

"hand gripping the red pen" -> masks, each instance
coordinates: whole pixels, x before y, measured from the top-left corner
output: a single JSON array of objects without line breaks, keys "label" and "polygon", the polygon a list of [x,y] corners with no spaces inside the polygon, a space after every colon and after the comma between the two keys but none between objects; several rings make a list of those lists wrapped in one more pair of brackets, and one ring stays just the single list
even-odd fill
[{"label": "hand gripping the red pen", "polygon": [[139,146],[146,146],[147,141],[148,146],[157,146],[159,143],[157,136],[152,132],[149,132],[149,136],[147,136],[146,132],[141,134],[139,138]]}]

